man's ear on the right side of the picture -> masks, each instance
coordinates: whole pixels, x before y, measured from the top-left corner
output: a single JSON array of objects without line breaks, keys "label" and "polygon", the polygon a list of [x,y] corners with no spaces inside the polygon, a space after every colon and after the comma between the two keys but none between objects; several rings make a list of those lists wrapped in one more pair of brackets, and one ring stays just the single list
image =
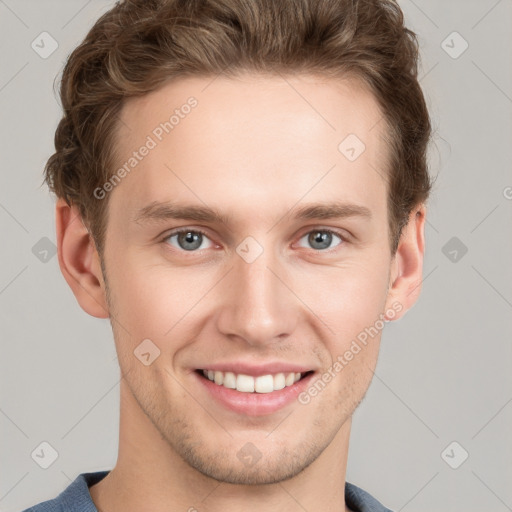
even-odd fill
[{"label": "man's ear on the right side of the picture", "polygon": [[[425,253],[426,207],[417,206],[402,230],[396,254],[391,263],[386,311],[393,310],[398,320],[414,305],[421,292],[423,256]],[[394,304],[394,307],[393,307]],[[401,307],[400,307],[401,306]]]}]

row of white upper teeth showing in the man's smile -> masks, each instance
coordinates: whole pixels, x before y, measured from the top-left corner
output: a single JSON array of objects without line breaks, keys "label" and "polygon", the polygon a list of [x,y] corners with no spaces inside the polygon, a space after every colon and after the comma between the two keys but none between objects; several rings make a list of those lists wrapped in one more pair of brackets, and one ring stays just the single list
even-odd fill
[{"label": "row of white upper teeth showing in the man's smile", "polygon": [[260,375],[252,377],[243,373],[219,372],[203,370],[203,375],[219,386],[236,389],[242,393],[271,393],[286,386],[291,386],[301,378],[300,373],[276,373],[275,375]]}]

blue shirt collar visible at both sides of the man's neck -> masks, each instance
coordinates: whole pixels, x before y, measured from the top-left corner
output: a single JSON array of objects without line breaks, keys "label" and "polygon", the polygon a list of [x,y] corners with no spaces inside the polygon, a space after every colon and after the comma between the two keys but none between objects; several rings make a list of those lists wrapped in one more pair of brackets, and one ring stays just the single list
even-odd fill
[{"label": "blue shirt collar visible at both sides of the man's neck", "polygon": [[[81,473],[56,498],[43,501],[23,512],[98,512],[89,487],[108,475],[109,471]],[[345,501],[355,512],[392,512],[359,487],[345,483]]]}]

